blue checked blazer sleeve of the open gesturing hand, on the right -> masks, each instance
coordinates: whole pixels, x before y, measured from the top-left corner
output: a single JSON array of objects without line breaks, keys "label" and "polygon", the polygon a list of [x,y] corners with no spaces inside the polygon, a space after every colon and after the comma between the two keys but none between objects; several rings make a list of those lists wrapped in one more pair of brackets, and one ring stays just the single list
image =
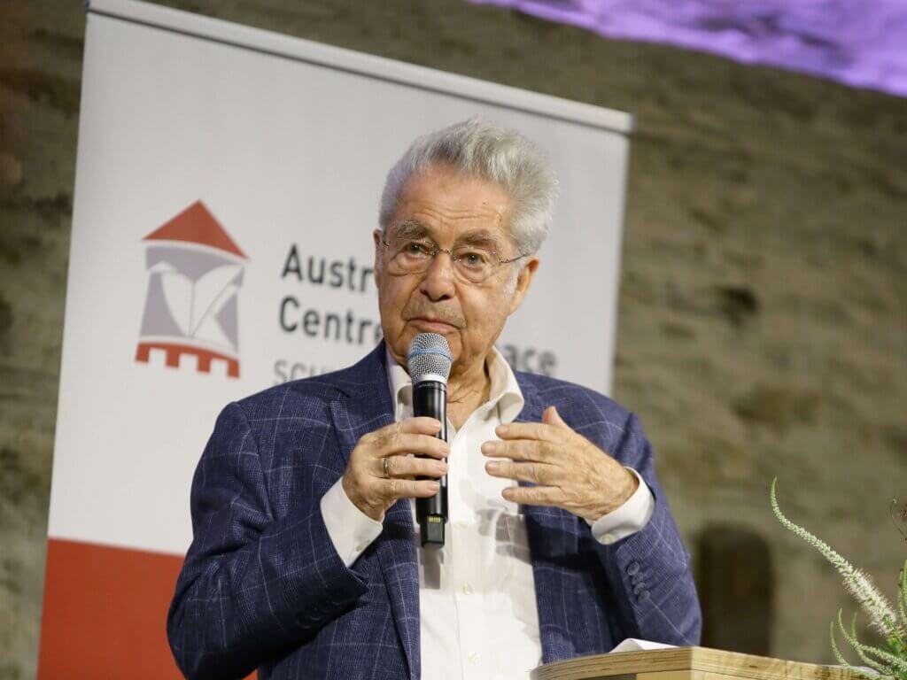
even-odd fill
[{"label": "blue checked blazer sleeve of the open gesturing hand, on the right", "polygon": [[625,637],[698,645],[702,615],[689,555],[655,476],[651,444],[633,413],[612,454],[639,472],[655,499],[649,522],[638,532],[610,545],[595,541],[618,608],[614,623]]}]

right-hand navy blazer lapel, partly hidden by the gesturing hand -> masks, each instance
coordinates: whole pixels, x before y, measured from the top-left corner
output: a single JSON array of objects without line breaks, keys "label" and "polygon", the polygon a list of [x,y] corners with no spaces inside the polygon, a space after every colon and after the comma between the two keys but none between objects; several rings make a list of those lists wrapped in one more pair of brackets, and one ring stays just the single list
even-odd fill
[{"label": "right-hand navy blazer lapel, partly hidden by the gesturing hand", "polygon": [[[540,423],[541,413],[550,404],[541,399],[527,374],[516,374],[517,383],[525,400],[517,423]],[[519,482],[520,486],[534,486],[532,482]],[[570,634],[570,612],[574,603],[564,601],[570,592],[565,588],[565,562],[579,551],[577,518],[567,510],[541,505],[524,505],[529,551],[532,556],[532,576],[535,579],[535,600],[539,611],[541,633],[541,661],[551,661],[576,656],[576,647]]]}]

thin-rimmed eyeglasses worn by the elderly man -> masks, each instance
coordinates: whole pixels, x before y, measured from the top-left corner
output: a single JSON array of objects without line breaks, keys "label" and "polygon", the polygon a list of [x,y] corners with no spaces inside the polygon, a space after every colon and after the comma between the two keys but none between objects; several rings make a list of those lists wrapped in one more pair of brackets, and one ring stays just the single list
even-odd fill
[{"label": "thin-rimmed eyeglasses worn by the elderly man", "polygon": [[447,253],[451,257],[453,273],[466,283],[482,283],[493,275],[498,267],[516,262],[525,255],[502,259],[496,250],[464,244],[456,248],[438,248],[437,244],[424,238],[398,237],[382,239],[381,244],[387,248],[390,262],[387,271],[396,276],[405,274],[422,274],[432,266],[438,253]]}]

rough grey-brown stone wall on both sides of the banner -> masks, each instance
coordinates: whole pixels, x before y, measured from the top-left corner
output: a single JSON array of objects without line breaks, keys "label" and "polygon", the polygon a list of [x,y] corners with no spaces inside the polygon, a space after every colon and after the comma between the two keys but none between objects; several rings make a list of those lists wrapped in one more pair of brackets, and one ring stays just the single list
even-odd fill
[{"label": "rough grey-brown stone wall on both sides of the banner", "polygon": [[[616,396],[688,545],[764,537],[772,653],[851,609],[785,510],[892,595],[907,545],[907,102],[460,0],[172,5],[633,112]],[[72,209],[80,3],[0,5],[0,678],[34,675]],[[565,228],[565,227],[561,227]],[[695,556],[694,556],[695,558]],[[731,613],[730,615],[733,615]]]}]

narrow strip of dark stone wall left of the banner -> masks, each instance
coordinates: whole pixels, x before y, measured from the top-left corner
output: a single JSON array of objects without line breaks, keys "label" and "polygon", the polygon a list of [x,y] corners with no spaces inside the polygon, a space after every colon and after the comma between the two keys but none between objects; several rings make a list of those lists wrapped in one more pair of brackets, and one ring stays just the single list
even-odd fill
[{"label": "narrow strip of dark stone wall left of the banner", "polygon": [[[61,11],[62,10],[62,11]],[[83,15],[0,4],[0,678],[34,677]]]}]

